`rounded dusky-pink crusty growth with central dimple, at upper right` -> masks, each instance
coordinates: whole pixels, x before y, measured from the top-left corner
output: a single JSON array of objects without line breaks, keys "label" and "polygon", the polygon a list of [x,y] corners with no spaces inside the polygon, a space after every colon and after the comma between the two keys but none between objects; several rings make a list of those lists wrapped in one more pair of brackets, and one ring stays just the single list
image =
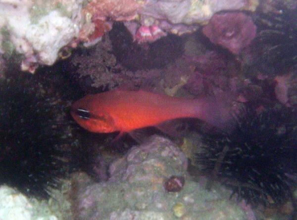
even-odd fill
[{"label": "rounded dusky-pink crusty growth with central dimple, at upper right", "polygon": [[242,12],[215,14],[202,31],[212,43],[219,44],[234,54],[239,54],[256,36],[256,26]]}]

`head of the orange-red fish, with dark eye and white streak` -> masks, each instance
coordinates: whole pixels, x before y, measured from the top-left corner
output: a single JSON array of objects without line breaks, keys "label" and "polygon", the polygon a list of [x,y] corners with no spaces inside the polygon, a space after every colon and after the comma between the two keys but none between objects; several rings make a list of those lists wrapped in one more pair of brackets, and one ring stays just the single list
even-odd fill
[{"label": "head of the orange-red fish, with dark eye and white streak", "polygon": [[113,118],[94,103],[92,95],[74,102],[70,114],[84,129],[96,133],[116,132]]}]

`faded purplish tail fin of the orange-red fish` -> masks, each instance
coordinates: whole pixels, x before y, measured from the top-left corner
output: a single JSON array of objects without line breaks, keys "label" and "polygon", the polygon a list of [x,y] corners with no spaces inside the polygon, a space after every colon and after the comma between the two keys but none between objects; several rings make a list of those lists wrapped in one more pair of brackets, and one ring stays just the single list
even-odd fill
[{"label": "faded purplish tail fin of the orange-red fish", "polygon": [[231,97],[232,95],[224,93],[197,99],[197,118],[223,132],[231,132],[236,123]]}]

